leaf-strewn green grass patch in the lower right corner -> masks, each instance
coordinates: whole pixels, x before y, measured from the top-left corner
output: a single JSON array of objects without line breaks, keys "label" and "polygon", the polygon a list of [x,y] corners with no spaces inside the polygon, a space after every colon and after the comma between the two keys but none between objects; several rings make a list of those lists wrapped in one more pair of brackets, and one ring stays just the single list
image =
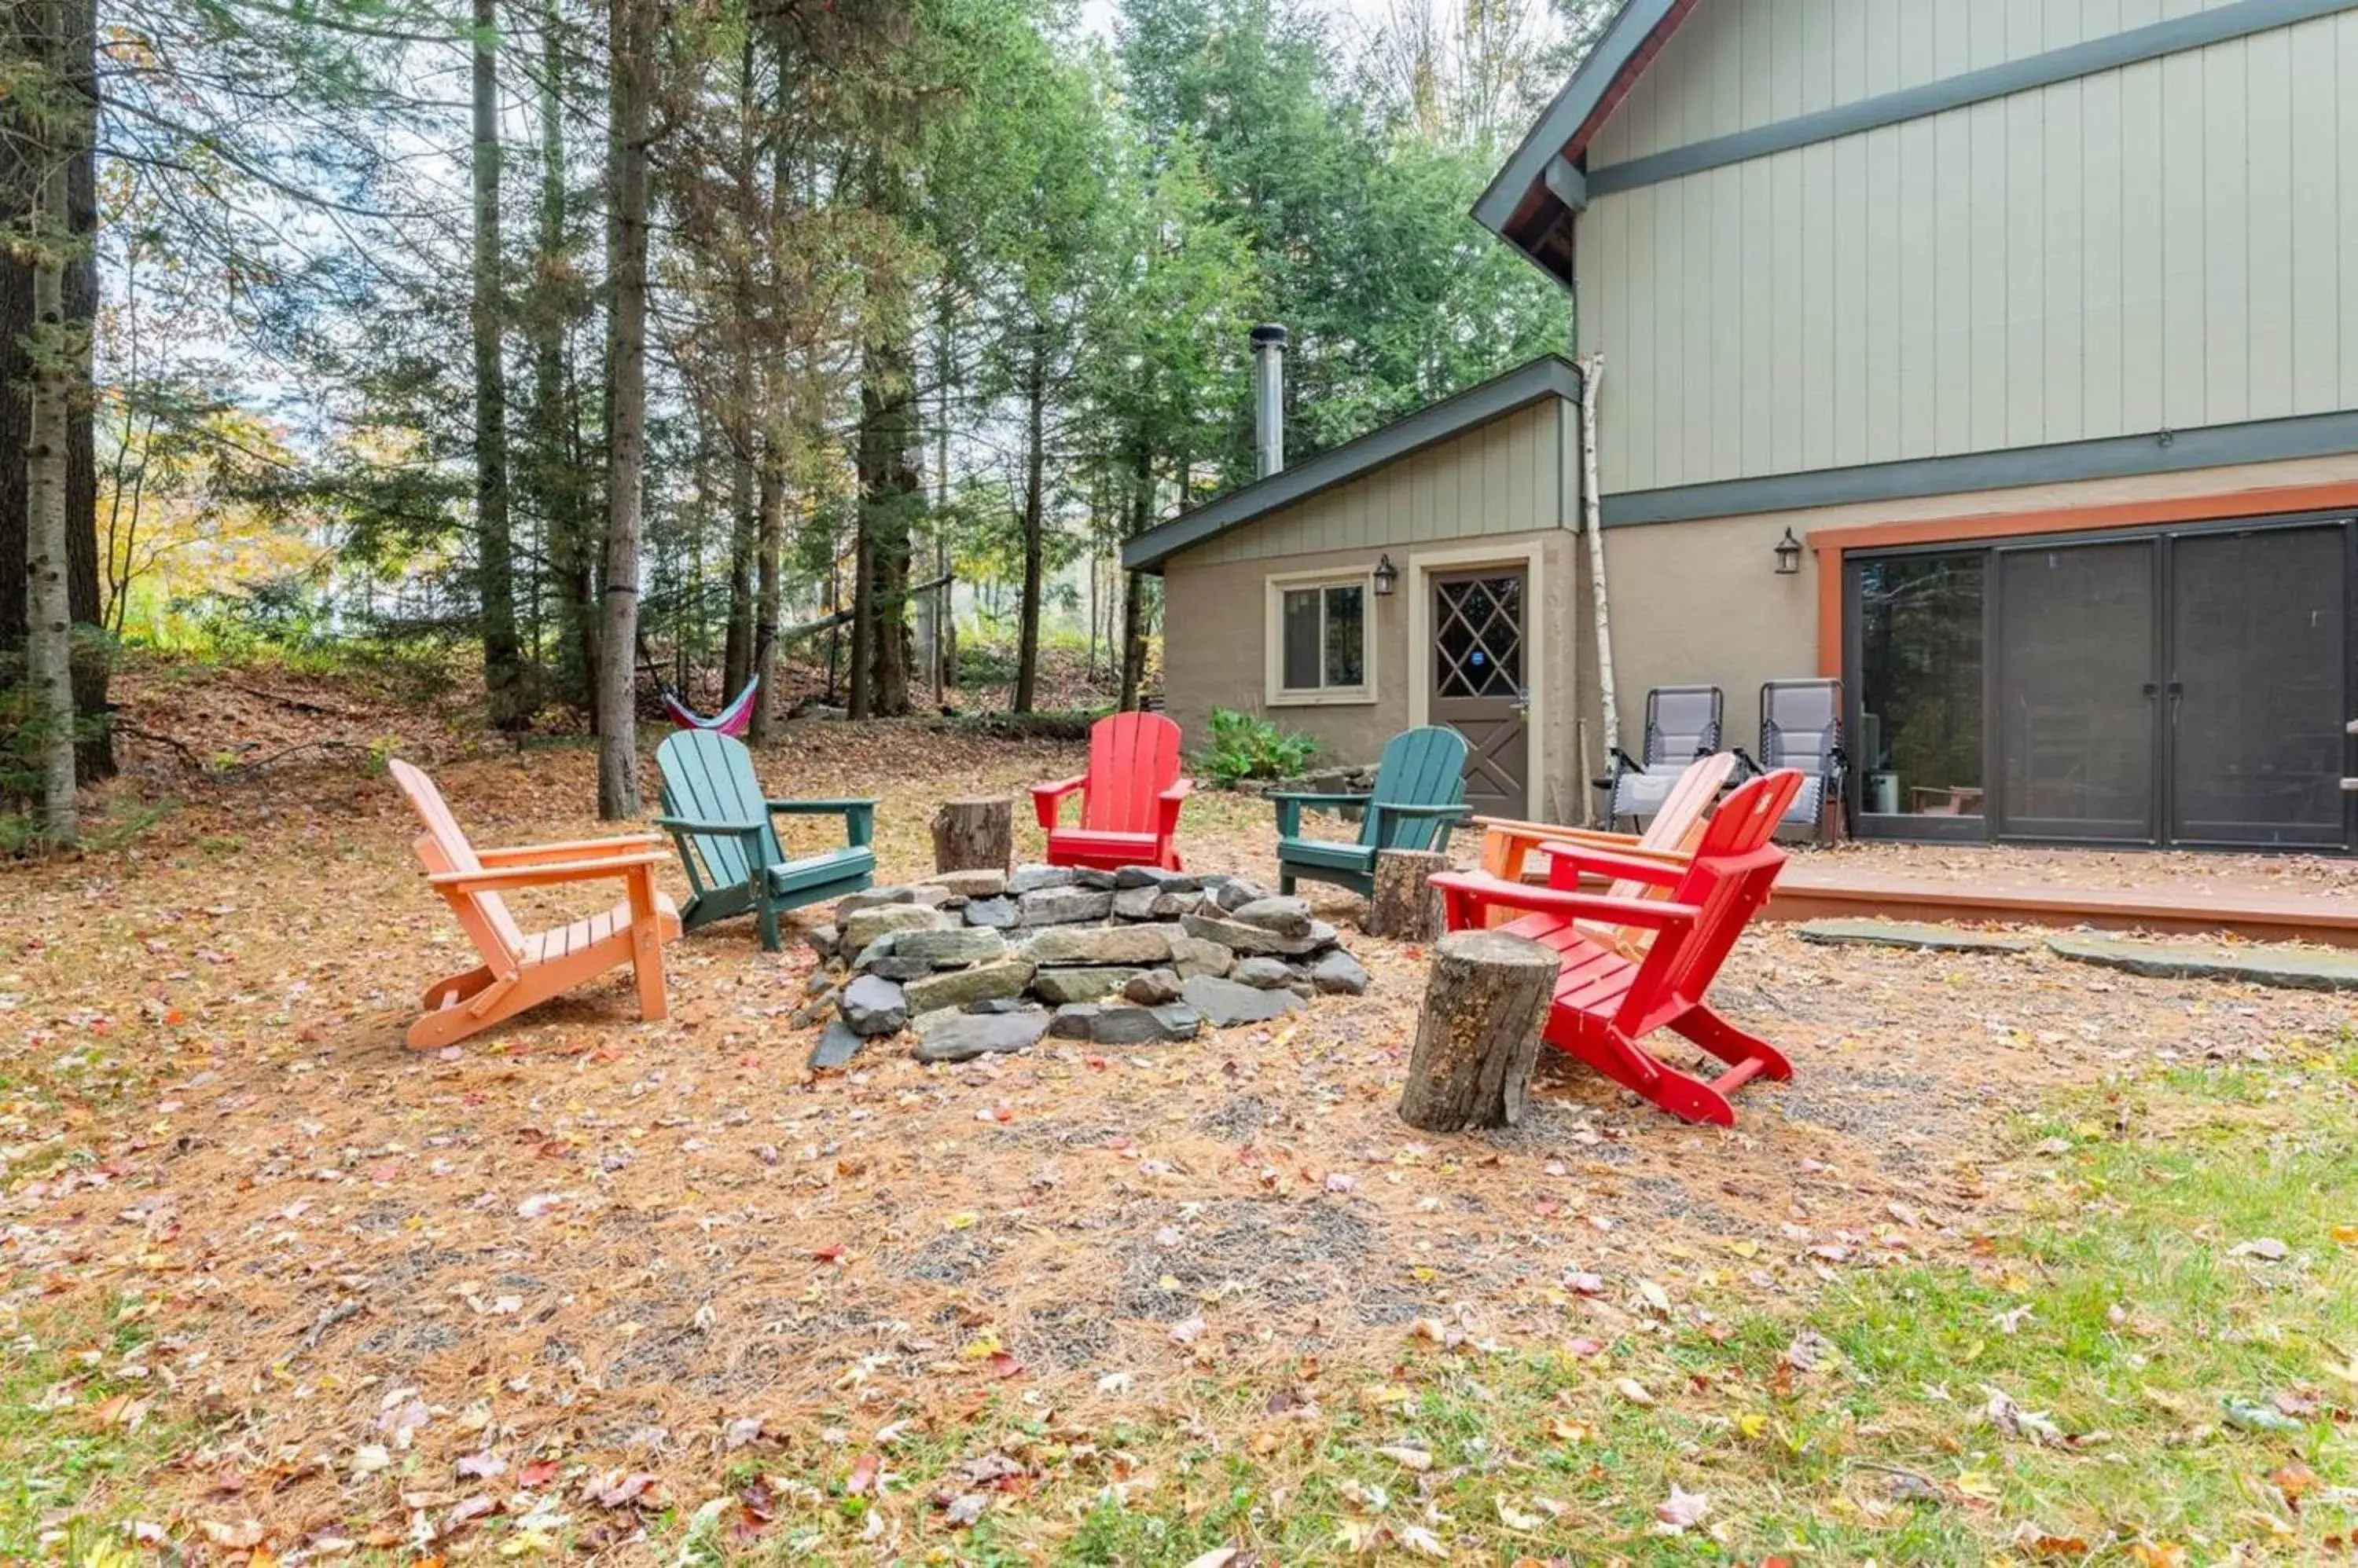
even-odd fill
[{"label": "leaf-strewn green grass patch in the lower right corner", "polygon": [[[2334,1551],[2358,1528],[2358,1490],[2337,1497],[2358,1445],[2334,1419],[2358,1403],[2358,1245],[2334,1236],[2358,1224],[2351,1066],[2176,1073],[2059,1106],[2021,1132],[2030,1217],[1971,1261],[1846,1273],[1799,1311],[1721,1287],[1717,1323],[1592,1358],[1415,1344],[1382,1384],[1304,1384],[1309,1419],[1269,1415],[1273,1386],[1219,1382],[1191,1389],[1186,1422],[1087,1434],[1000,1403],[896,1443],[882,1504],[842,1495],[856,1445],[811,1445],[783,1469],[828,1504],[780,1514],[750,1554],[849,1556],[870,1507],[967,1563],[1188,1563],[1221,1544],[1417,1561],[1412,1528],[1481,1563]],[[2231,1252],[2259,1238],[2287,1254]],[[1818,1365],[1785,1370],[1802,1332]],[[2054,1436],[2002,1431],[1993,1391]],[[2226,1398],[2278,1394],[2304,1412],[2292,1431],[2226,1419]],[[948,1535],[929,1497],[971,1490],[957,1467],[995,1445],[1030,1490]],[[1655,1528],[1672,1485],[1712,1500],[1702,1528]]]}]

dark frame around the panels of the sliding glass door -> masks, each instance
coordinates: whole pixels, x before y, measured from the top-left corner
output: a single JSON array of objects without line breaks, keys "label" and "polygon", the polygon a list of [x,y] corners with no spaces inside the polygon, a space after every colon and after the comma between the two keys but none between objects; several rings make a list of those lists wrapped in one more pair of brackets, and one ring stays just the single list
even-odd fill
[{"label": "dark frame around the panels of the sliding glass door", "polygon": [[[1981,757],[1983,757],[1983,813],[1971,816],[1870,816],[1865,811],[1865,762],[1846,771],[1844,788],[1851,795],[1851,823],[1853,832],[1868,839],[1898,839],[1898,842],[1967,842],[1967,844],[2063,844],[2063,846],[2169,846],[2169,849],[2217,849],[2226,854],[2353,854],[2358,851],[2358,795],[2344,795],[2341,799],[2341,844],[2221,844],[2205,839],[2172,839],[2172,790],[2169,778],[2169,724],[2167,717],[2167,691],[2158,696],[2155,724],[2153,724],[2153,837],[2150,839],[2049,839],[2049,837],[2016,837],[2000,835],[1997,823],[2002,821],[2002,790],[2004,776],[1997,766],[1997,724],[1995,714],[2000,703],[2000,599],[2004,589],[2000,587],[2000,573],[1995,571],[1997,556],[2002,552],[2021,549],[2054,549],[2068,545],[2129,545],[2129,542],[2153,542],[2153,571],[2155,571],[2155,608],[2153,608],[2153,667],[2155,679],[2167,684],[2169,670],[2165,667],[2165,655],[2169,651],[2169,615],[2172,615],[2172,540],[2179,538],[2202,538],[2202,535],[2235,535],[2235,533],[2266,533],[2273,528],[2318,528],[2339,526],[2341,528],[2341,707],[2346,719],[2358,719],[2358,514],[2349,509],[2332,512],[2294,512],[2275,516],[2224,516],[2212,521],[2193,523],[2155,523],[2139,528],[2075,528],[2063,533],[2037,533],[2037,535],[2007,535],[2007,538],[1983,538],[1983,540],[1945,540],[1945,542],[1910,542],[1893,545],[1889,549],[1865,547],[1842,552],[1842,667],[1844,667],[1844,722],[1849,733],[1860,731],[1860,705],[1865,691],[1860,684],[1860,566],[1870,559],[1889,556],[1962,556],[1978,554],[1985,561],[1983,568],[1983,599],[1981,599],[1981,634],[1983,634],[1983,658],[1981,658]],[[2344,736],[2341,743],[2341,766],[2346,776],[2358,776],[2358,736]]]}]

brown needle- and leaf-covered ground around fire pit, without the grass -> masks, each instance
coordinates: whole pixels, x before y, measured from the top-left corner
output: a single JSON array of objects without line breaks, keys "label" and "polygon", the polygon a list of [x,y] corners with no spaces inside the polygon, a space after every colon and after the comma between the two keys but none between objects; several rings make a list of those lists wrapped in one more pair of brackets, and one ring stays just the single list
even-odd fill
[{"label": "brown needle- and leaf-covered ground around fire pit, without the grass", "polygon": [[[179,733],[283,710],[215,689],[141,703]],[[424,729],[358,707],[340,724],[356,747]],[[587,750],[403,750],[481,844],[599,832]],[[931,802],[1078,762],[802,724],[759,771],[776,795],[880,795],[884,877],[908,877],[929,870]],[[0,1327],[144,1304],[158,1337],[94,1337],[92,1372],[137,1361],[153,1419],[215,1422],[139,1478],[141,1509],[219,1511],[236,1478],[236,1511],[276,1542],[399,1528],[469,1490],[479,1455],[693,1497],[759,1434],[955,1422],[993,1396],[1108,1417],[1184,1401],[1203,1372],[1384,1368],[1417,1320],[1563,1342],[1611,1330],[1641,1285],[1776,1299],[1967,1254],[2016,1203],[2000,1139],[2059,1085],[2283,1052],[2351,1016],[2330,995],[1761,929],[1717,997],[1797,1075],[1747,1087],[1733,1132],[1570,1068],[1523,1127],[1434,1139],[1394,1115],[1422,955],[1358,936],[1356,901],[1328,891],[1375,986],[1276,1033],[955,1068],[880,1042],[814,1080],[816,1026],[790,1023],[814,960],[764,955],[740,922],[672,950],[665,1023],[637,1023],[613,979],[420,1056],[401,1033],[462,938],[410,835],[365,755],[330,752],[0,882]],[[1243,797],[1203,797],[1181,830],[1205,870],[1266,875],[1271,842]],[[2009,856],[2108,877],[2172,861]],[[2349,884],[2341,865],[2254,875],[2278,872]],[[73,1379],[54,1394],[73,1408]]]}]

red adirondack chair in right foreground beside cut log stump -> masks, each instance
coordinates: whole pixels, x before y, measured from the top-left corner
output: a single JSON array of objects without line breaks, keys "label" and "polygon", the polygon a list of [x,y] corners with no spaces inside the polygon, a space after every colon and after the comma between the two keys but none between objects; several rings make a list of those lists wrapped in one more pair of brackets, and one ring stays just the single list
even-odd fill
[{"label": "red adirondack chair in right foreground beside cut log stump", "polygon": [[[1785,806],[1802,790],[1802,773],[1780,769],[1738,788],[1721,802],[1686,865],[1644,861],[1587,844],[1544,844],[1549,887],[1523,887],[1481,872],[1443,872],[1453,931],[1483,927],[1490,905],[1530,910],[1502,927],[1563,955],[1556,1000],[1547,1012],[1547,1042],[1580,1056],[1613,1082],[1691,1122],[1735,1125],[1728,1094],[1754,1078],[1792,1078],[1766,1040],[1747,1035],[1702,1000],[1719,976],[1745,922],[1768,901],[1785,851],[1771,839]],[[1667,887],[1669,898],[1582,894],[1580,872]],[[1606,927],[1644,927],[1653,941],[1641,955],[1620,950]],[[1585,929],[1589,927],[1589,929]],[[1702,1080],[1648,1054],[1639,1040],[1658,1028],[1686,1035],[1728,1063]]]}]

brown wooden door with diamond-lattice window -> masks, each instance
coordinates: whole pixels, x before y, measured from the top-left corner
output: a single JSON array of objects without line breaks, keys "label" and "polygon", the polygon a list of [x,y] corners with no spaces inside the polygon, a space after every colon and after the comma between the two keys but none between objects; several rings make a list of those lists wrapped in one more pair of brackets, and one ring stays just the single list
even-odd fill
[{"label": "brown wooden door with diamond-lattice window", "polygon": [[1528,594],[1521,566],[1436,573],[1429,714],[1467,740],[1467,804],[1530,811]]}]

